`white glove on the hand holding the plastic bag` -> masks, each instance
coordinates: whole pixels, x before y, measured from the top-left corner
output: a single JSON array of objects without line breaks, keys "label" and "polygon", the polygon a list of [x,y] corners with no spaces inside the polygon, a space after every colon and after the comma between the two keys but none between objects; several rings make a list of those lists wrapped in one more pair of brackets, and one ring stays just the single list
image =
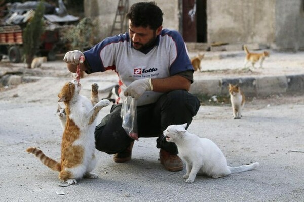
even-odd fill
[{"label": "white glove on the hand holding the plastic bag", "polygon": [[145,92],[153,90],[151,78],[144,78],[134,80],[124,91],[125,96],[131,96],[138,100],[138,98]]}]

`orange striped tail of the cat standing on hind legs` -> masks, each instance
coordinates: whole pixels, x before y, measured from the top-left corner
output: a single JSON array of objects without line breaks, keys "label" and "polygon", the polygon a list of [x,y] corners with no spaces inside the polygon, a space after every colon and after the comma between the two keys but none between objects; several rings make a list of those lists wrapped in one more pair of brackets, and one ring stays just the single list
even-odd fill
[{"label": "orange striped tail of the cat standing on hind legs", "polygon": [[54,171],[61,171],[61,163],[57,162],[56,160],[53,160],[52,158],[49,158],[46,156],[40,149],[36,147],[28,147],[26,149],[28,153],[34,154],[37,158],[40,159],[40,161],[49,167],[50,169]]}]

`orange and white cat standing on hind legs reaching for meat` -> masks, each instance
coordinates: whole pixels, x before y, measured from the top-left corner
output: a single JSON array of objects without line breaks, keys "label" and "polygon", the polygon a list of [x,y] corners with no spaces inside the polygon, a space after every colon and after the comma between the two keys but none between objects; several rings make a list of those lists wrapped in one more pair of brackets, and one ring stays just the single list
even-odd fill
[{"label": "orange and white cat standing on hind legs reaching for meat", "polygon": [[47,157],[36,147],[27,148],[44,165],[59,171],[59,179],[67,185],[76,184],[76,179],[97,178],[91,171],[95,168],[95,119],[103,107],[109,105],[108,100],[101,100],[95,106],[80,95],[81,84],[77,80],[67,82],[58,94],[58,102],[65,104],[66,123],[61,142],[61,161]]}]

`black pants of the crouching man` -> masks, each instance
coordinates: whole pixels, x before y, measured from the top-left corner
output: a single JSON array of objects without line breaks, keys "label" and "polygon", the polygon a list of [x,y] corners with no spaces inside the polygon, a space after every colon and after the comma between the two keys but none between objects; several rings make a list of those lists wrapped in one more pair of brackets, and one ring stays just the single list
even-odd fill
[{"label": "black pants of the crouching man", "polygon": [[[125,150],[132,141],[122,127],[122,104],[112,105],[111,113],[96,126],[96,149],[108,154]],[[167,142],[163,131],[172,124],[187,127],[199,110],[200,101],[185,90],[175,90],[162,95],[156,103],[137,107],[138,137],[158,137],[157,148],[177,154],[177,147]]]}]

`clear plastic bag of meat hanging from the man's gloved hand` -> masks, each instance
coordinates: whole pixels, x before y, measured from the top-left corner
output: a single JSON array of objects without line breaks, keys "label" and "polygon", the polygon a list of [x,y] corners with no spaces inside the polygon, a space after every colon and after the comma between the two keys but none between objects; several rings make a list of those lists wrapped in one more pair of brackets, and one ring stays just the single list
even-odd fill
[{"label": "clear plastic bag of meat hanging from the man's gloved hand", "polygon": [[131,96],[127,96],[123,102],[121,117],[123,119],[123,128],[127,134],[132,139],[138,140],[136,100]]}]

